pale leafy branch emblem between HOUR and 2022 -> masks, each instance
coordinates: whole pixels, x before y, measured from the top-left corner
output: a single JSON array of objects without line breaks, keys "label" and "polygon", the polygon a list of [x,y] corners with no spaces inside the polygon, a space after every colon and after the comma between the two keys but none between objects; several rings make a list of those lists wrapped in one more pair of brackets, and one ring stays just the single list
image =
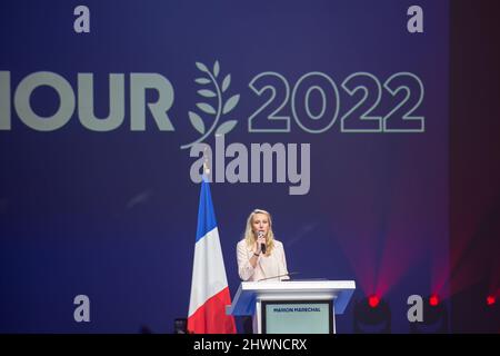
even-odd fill
[{"label": "pale leafy branch emblem between HOUR and 2022", "polygon": [[[201,137],[196,141],[192,141],[191,144],[181,146],[181,149],[189,148],[194,144],[204,140],[216,129],[222,116],[229,113],[232,109],[234,109],[238,105],[238,101],[240,100],[239,93],[233,95],[226,101],[222,99],[222,95],[229,89],[229,86],[231,85],[231,75],[227,75],[222,80],[222,85],[219,85],[219,82],[217,81],[217,78],[220,73],[220,66],[218,60],[216,60],[216,62],[213,63],[212,71],[210,71],[210,69],[201,62],[196,62],[196,65],[197,68],[203,73],[203,77],[194,79],[194,82],[202,86],[203,88],[198,90],[198,95],[202,98],[214,98],[214,100],[217,100],[216,107],[208,102],[198,102],[197,107],[204,113],[214,116],[214,118],[212,125],[207,130],[201,116],[194,111],[188,111],[189,120],[191,121],[192,127],[201,134]],[[207,89],[208,85],[212,85],[213,89]],[[221,123],[219,127],[217,127],[216,135],[226,135],[230,132],[237,123],[237,120],[229,120]]]}]

